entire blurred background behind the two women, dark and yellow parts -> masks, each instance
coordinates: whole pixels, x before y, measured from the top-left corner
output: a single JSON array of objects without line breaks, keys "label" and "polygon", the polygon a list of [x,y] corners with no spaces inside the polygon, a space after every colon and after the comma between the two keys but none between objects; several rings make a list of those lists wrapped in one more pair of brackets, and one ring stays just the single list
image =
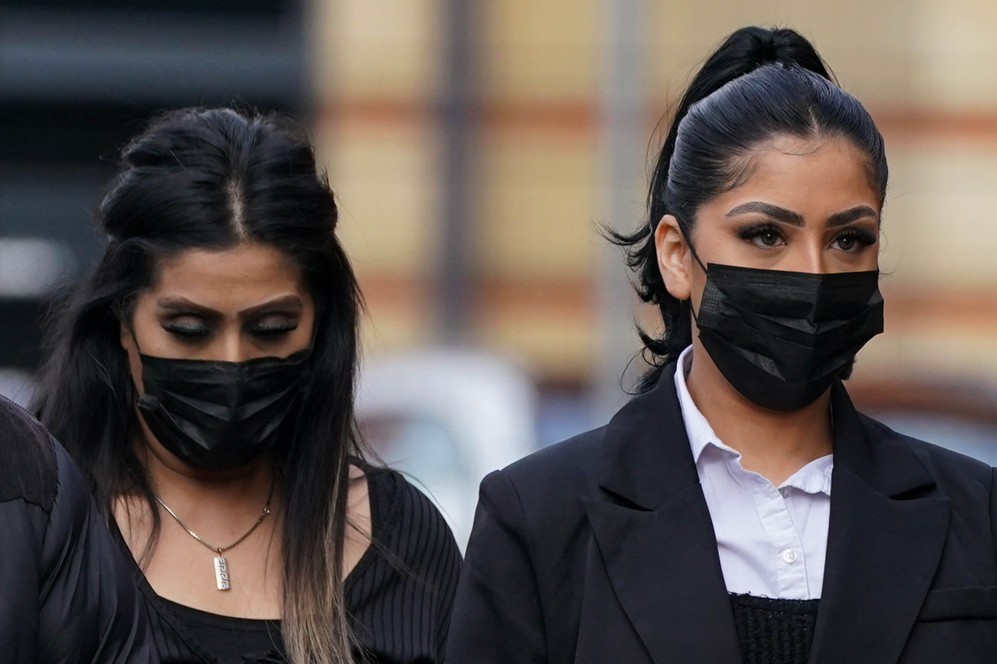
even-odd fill
[{"label": "entire blurred background behind the two women, dark and yellow parts", "polygon": [[463,541],[485,473],[626,400],[633,323],[658,322],[599,227],[643,222],[660,121],[747,24],[811,37],[886,137],[886,332],[855,400],[997,464],[992,0],[0,0],[0,393],[29,397],[153,113],[291,112],[369,307],[365,434]]}]

